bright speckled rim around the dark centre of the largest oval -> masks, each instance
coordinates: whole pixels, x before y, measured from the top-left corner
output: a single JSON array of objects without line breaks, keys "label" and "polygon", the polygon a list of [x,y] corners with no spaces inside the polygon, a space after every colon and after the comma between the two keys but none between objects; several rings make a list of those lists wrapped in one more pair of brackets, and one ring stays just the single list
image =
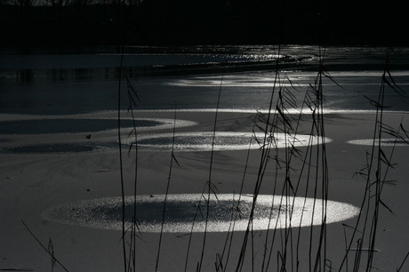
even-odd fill
[{"label": "bright speckled rim around the dark centre of the largest oval", "polygon": [[[215,196],[211,196],[210,201],[215,201]],[[231,201],[237,203],[238,196],[233,194],[219,194],[219,200]],[[138,203],[144,204],[163,204],[164,195],[156,196],[137,196]],[[201,194],[180,194],[168,195],[168,202],[180,202],[190,206],[195,206],[200,201],[203,201]],[[133,203],[133,196],[125,197],[126,204]],[[253,204],[253,196],[241,196],[240,204]],[[290,204],[290,205],[286,205]],[[259,195],[257,197],[257,207],[264,208],[273,207],[276,210],[275,216],[270,218],[269,209],[264,209],[264,212],[258,218],[253,220],[253,229],[266,230],[269,228],[300,228],[321,225],[323,223],[323,204],[324,200],[314,199],[309,197],[293,197],[293,196],[271,196]],[[68,225],[89,227],[89,228],[103,228],[111,230],[121,230],[122,220],[104,219],[104,208],[122,207],[122,197],[105,197],[92,200],[77,201],[66,204],[59,204],[52,206],[45,210],[42,216],[45,220],[52,220]],[[231,209],[231,208],[230,208]],[[98,211],[98,212],[95,212]],[[280,212],[281,211],[281,212]],[[291,212],[288,212],[291,211]],[[230,211],[227,211],[230,212]],[[327,201],[326,203],[326,224],[339,222],[342,220],[349,220],[359,213],[359,209],[352,205],[336,201]],[[291,220],[290,220],[291,214]],[[121,218],[119,216],[118,218]],[[271,219],[271,220],[269,220]],[[161,231],[162,218],[158,218],[154,222],[140,222],[138,226],[141,232],[157,233]],[[204,232],[205,223],[194,222],[188,220],[180,220],[179,222],[166,223],[164,221],[164,232],[169,233],[189,233]],[[208,232],[226,232],[231,231],[230,220],[209,220],[207,225]],[[245,231],[249,223],[247,219],[235,221],[235,231]],[[129,228],[131,223],[126,224]]]}]

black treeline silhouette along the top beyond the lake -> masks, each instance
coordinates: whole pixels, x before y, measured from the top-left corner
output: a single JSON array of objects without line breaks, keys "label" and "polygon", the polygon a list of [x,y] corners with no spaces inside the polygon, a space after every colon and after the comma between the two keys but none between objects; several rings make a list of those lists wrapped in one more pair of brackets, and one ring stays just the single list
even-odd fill
[{"label": "black treeline silhouette along the top beyond the lake", "polygon": [[2,45],[408,44],[403,7],[301,0],[16,0]]}]

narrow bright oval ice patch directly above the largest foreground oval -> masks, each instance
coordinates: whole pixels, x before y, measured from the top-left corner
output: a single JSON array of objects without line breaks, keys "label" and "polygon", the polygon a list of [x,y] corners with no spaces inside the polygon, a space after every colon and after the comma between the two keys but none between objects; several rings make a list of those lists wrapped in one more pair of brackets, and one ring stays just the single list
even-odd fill
[{"label": "narrow bright oval ice patch directly above the largest foreground oval", "polygon": [[[172,145],[175,151],[208,151],[212,150],[235,150],[248,148],[261,148],[264,142],[264,133],[257,132],[180,132],[158,133],[142,135],[138,139],[138,148],[147,150],[170,150]],[[325,138],[325,142],[331,140]],[[174,143],[173,143],[174,142]],[[267,142],[271,148],[303,147],[309,144],[321,143],[317,137],[310,135],[290,136],[284,133],[276,133],[274,137],[268,137]]]}]

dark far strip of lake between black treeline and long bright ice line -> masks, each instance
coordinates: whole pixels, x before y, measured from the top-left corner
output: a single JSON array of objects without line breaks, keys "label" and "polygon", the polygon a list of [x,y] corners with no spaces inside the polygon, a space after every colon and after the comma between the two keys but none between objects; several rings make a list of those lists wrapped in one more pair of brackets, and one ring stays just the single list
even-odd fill
[{"label": "dark far strip of lake between black treeline and long bright ice line", "polygon": [[[73,114],[117,108],[118,76],[138,92],[139,109],[269,108],[276,60],[280,70],[276,90],[286,88],[298,103],[317,76],[318,48],[287,45],[167,48],[127,48],[103,52],[0,55],[2,113]],[[385,49],[330,47],[325,51],[323,82],[328,110],[374,109],[385,67]],[[409,49],[397,48],[389,57],[390,72],[403,89],[409,84]],[[279,84],[278,84],[279,83]],[[129,105],[126,79],[122,80],[122,108]],[[389,110],[409,110],[397,92],[389,90]]]}]

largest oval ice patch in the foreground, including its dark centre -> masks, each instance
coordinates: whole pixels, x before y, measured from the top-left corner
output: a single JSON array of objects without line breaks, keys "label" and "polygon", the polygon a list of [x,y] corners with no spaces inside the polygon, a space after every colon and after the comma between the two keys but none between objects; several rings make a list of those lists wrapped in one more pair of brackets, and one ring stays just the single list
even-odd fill
[{"label": "largest oval ice patch in the foreground, including its dark centre", "polygon": [[[125,198],[125,226],[132,225],[136,214],[142,232],[160,232],[164,212],[164,232],[243,231],[247,228],[253,207],[253,196],[221,194],[164,195]],[[320,225],[323,222],[323,200],[292,196],[257,197],[253,212],[253,229],[289,228]],[[134,208],[136,207],[136,209]],[[122,229],[122,197],[108,197],[53,206],[43,213],[46,220],[92,228]],[[326,222],[347,220],[359,209],[351,204],[328,201]]]}]

